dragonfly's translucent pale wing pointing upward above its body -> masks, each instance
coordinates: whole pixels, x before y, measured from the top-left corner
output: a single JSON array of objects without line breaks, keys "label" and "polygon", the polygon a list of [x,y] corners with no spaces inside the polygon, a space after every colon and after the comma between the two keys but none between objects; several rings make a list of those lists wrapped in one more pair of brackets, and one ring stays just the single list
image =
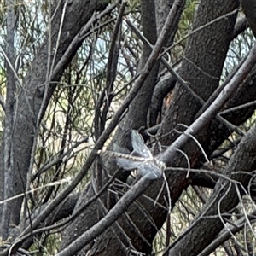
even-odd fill
[{"label": "dragonfly's translucent pale wing pointing upward above its body", "polygon": [[131,131],[131,144],[135,153],[143,156],[144,158],[152,158],[150,150],[143,142],[143,137],[138,133],[138,131]]}]

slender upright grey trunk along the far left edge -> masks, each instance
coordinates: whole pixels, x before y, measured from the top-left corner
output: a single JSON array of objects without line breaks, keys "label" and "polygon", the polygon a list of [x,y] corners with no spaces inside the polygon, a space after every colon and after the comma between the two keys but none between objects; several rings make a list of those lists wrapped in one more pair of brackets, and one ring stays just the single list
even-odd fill
[{"label": "slender upright grey trunk along the far left edge", "polygon": [[[1,187],[4,199],[13,195],[13,168],[14,168],[14,148],[13,131],[15,124],[15,5],[13,1],[7,1],[7,38],[6,38],[6,73],[7,73],[7,90],[5,102],[5,133],[3,137],[3,173],[4,186]],[[1,194],[2,194],[1,193]],[[10,214],[12,212],[12,203],[3,204],[3,212],[0,208],[0,237],[6,240],[9,236]]]}]

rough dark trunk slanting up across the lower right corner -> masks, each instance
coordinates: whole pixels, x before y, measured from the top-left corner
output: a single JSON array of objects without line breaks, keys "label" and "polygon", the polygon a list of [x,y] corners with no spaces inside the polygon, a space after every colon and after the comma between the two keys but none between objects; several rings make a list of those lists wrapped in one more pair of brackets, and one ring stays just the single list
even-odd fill
[{"label": "rough dark trunk slanting up across the lower right corner", "polygon": [[[255,151],[256,128],[253,125],[247,136],[242,138],[224,172],[227,177],[234,180],[234,183],[223,178],[218,180],[211,198],[201,210],[198,218],[195,218],[194,223],[190,225],[186,236],[179,239],[165,255],[178,255],[180,253],[181,255],[195,256],[214,240],[214,237],[224,228],[222,218],[230,218],[230,213],[234,211],[247,188],[247,184],[252,177],[249,173],[255,170],[256,167]],[[241,173],[241,171],[244,173]],[[236,183],[236,181],[239,183]],[[216,217],[207,218],[211,216]],[[210,231],[207,236],[205,230]]]}]

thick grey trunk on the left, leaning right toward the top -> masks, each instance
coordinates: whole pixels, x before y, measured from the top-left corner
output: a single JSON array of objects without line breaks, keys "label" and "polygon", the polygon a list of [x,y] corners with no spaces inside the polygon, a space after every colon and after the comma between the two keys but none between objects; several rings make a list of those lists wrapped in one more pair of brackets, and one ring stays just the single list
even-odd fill
[{"label": "thick grey trunk on the left, leaning right toward the top", "polygon": [[[56,8],[55,15],[52,20],[52,29],[49,34],[45,35],[44,44],[38,49],[38,55],[32,61],[32,69],[27,74],[23,84],[23,90],[20,91],[19,97],[16,101],[16,119],[15,129],[13,131],[13,143],[18,145],[14,147],[14,195],[20,195],[26,189],[26,175],[32,160],[32,144],[34,134],[38,127],[38,113],[42,108],[42,113],[47,108],[50,96],[55,90],[56,83],[49,83],[50,81],[58,81],[67,63],[72,59],[77,49],[81,44],[75,45],[72,52],[67,55],[67,59],[62,61],[61,68],[52,76],[49,73],[48,59],[52,61],[55,54],[55,47],[58,45],[55,55],[55,65],[61,60],[61,57],[66,54],[68,46],[71,44],[73,38],[79,33],[81,28],[90,20],[92,14],[96,10],[104,9],[109,1],[72,1],[67,4],[63,1],[57,1],[53,9]],[[61,16],[64,14],[64,20],[61,23]],[[58,40],[58,32],[61,37]],[[49,45],[49,37],[52,44]],[[57,44],[58,41],[58,44]],[[50,52],[50,55],[49,55]],[[43,104],[43,105],[42,105]],[[42,117],[39,117],[40,119]],[[3,155],[3,151],[2,154]],[[3,157],[0,157],[3,161]],[[3,163],[1,162],[3,167]],[[0,171],[1,187],[3,188],[3,169]],[[0,200],[3,199],[3,191]],[[20,222],[20,207],[22,198],[12,201],[12,206],[15,211],[12,211],[11,223],[19,224]]]}]

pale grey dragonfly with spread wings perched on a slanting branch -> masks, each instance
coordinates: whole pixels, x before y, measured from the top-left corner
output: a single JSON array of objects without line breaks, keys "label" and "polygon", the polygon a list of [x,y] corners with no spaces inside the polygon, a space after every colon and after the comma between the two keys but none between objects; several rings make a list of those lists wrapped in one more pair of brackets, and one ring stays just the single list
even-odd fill
[{"label": "pale grey dragonfly with spread wings perched on a slanting branch", "polygon": [[127,171],[137,169],[142,176],[146,175],[148,179],[160,178],[166,169],[166,164],[154,158],[144,143],[143,137],[136,130],[131,131],[131,145],[133,148],[131,154],[113,153],[118,166]]}]

